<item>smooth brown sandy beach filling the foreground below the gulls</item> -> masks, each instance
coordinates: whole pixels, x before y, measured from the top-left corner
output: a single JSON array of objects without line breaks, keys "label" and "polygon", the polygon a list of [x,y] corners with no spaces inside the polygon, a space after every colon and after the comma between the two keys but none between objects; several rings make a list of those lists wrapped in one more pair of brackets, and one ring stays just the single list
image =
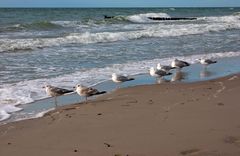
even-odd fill
[{"label": "smooth brown sandy beach filling the foreground below the gulls", "polygon": [[240,75],[119,89],[0,127],[0,156],[239,156]]}]

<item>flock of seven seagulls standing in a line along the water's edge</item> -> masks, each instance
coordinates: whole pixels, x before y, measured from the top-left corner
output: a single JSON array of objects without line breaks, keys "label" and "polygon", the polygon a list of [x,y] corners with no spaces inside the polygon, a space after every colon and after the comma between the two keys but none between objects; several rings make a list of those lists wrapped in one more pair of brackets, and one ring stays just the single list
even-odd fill
[{"label": "flock of seven seagulls standing in a line along the water's edge", "polygon": [[[214,64],[217,63],[217,61],[211,60],[211,59],[197,59],[197,61],[199,61],[202,65],[204,65],[204,67],[210,65],[210,64]],[[160,63],[157,64],[157,67],[151,67],[149,70],[149,74],[153,77],[158,77],[158,78],[162,78],[164,76],[168,76],[171,75],[172,73],[170,73],[170,71],[172,69],[182,69],[184,67],[190,66],[190,63],[182,61],[182,60],[178,60],[175,59],[172,61],[171,65],[167,66],[167,65],[161,65]],[[120,84],[126,81],[132,81],[134,80],[134,78],[125,76],[125,75],[120,75],[120,74],[116,74],[113,73],[112,74],[112,81]],[[118,86],[119,87],[119,86]],[[61,96],[64,94],[68,94],[68,93],[72,93],[72,92],[77,92],[78,95],[85,97],[85,102],[87,102],[87,98],[90,96],[94,96],[94,95],[100,95],[100,94],[104,94],[106,93],[106,91],[98,91],[95,88],[92,87],[87,87],[87,86],[83,86],[81,84],[76,85],[75,87],[73,87],[75,90],[68,90],[68,89],[64,89],[64,88],[58,88],[58,87],[54,87],[51,85],[46,85],[43,88],[45,88],[45,91],[47,93],[48,96],[54,97],[54,103],[55,106],[57,107],[57,96]]]}]

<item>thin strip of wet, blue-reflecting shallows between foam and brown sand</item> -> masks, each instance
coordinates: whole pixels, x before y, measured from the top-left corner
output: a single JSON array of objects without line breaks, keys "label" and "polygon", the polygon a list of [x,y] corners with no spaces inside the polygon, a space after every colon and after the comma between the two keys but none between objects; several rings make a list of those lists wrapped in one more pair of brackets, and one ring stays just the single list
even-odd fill
[{"label": "thin strip of wet, blue-reflecting shallows between foam and brown sand", "polygon": [[[121,84],[121,88],[144,84],[175,84],[179,82],[189,83],[211,80],[239,73],[239,59],[240,57],[219,59],[217,64],[211,65],[209,68],[207,68],[207,70],[204,70],[200,64],[192,64],[190,67],[184,68],[181,73],[177,74],[174,70],[172,76],[167,76],[166,79],[158,79],[158,81],[156,81],[156,79],[151,77],[148,73],[138,74],[133,76],[135,78],[134,81]],[[112,92],[116,89],[116,84],[114,84],[111,80],[106,80],[102,83],[98,83],[94,86],[94,88],[97,88],[98,90]],[[79,101],[83,101],[83,98],[76,93],[58,97],[58,104],[60,106],[71,105],[73,103],[78,103]],[[54,109],[53,98],[49,97],[46,99],[37,100],[29,104],[19,105],[19,107],[23,110],[12,113],[11,117],[8,120],[1,121],[0,125],[19,120],[26,120],[29,118],[41,117],[43,112]]]}]

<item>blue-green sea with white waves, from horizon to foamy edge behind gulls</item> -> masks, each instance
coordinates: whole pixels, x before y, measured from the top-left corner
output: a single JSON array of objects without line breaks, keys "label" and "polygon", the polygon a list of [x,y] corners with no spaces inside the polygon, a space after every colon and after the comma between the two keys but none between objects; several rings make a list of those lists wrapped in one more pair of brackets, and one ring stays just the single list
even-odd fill
[{"label": "blue-green sea with white waves, from horizon to foamy edge behind gulls", "polygon": [[240,8],[0,9],[0,110],[46,98],[46,84],[95,85],[176,57],[237,57],[239,41]]}]

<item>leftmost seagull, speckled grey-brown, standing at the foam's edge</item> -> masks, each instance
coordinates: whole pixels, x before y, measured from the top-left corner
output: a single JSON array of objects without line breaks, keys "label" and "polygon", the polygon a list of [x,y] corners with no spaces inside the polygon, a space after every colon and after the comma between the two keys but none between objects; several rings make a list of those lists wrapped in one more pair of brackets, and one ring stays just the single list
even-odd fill
[{"label": "leftmost seagull, speckled grey-brown, standing at the foam's edge", "polygon": [[54,97],[54,103],[56,107],[57,107],[57,96],[61,96],[61,95],[73,92],[73,90],[58,88],[51,85],[46,85],[43,88],[45,88],[45,91],[48,96]]}]

